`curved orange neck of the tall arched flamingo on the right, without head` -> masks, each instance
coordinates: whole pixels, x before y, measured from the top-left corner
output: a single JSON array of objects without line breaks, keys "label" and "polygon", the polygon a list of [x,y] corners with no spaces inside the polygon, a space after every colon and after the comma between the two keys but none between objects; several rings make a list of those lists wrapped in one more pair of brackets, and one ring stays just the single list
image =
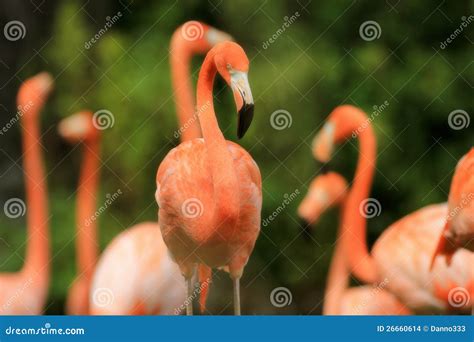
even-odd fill
[{"label": "curved orange neck of the tall arched flamingo on the right, without head", "polygon": [[377,281],[377,268],[367,247],[367,218],[361,202],[369,197],[375,169],[376,142],[372,127],[359,135],[359,161],[344,210],[342,242],[352,273],[367,283]]}]

